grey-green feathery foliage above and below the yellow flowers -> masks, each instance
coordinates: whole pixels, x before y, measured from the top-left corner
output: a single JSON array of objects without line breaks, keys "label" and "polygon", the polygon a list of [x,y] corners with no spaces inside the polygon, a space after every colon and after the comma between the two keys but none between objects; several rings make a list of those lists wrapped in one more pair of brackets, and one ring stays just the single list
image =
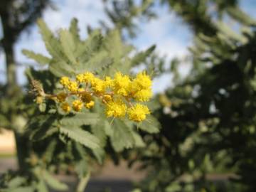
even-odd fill
[{"label": "grey-green feathery foliage above and below the yellow flowers", "polygon": [[[60,29],[58,36],[42,20],[38,20],[38,26],[50,57],[23,50],[28,58],[47,66],[46,70],[31,68],[27,71],[28,78],[33,82],[32,91],[36,92],[56,93],[61,90],[60,77],[75,78],[75,75],[85,71],[99,76],[111,76],[117,70],[129,74],[132,67],[145,62],[154,50],[153,46],[145,52],[131,54],[134,48],[122,42],[117,29],[105,35],[95,30],[85,40],[81,40],[76,19],[73,19],[69,29]],[[36,179],[36,185],[33,186],[33,182],[26,180],[26,184],[21,183],[21,186],[30,183],[31,188],[40,188],[38,191],[47,191],[46,184],[51,188],[65,190],[57,181],[46,179],[49,166],[54,165],[55,170],[73,166],[78,176],[84,178],[96,161],[102,164],[106,155],[105,147],[111,147],[115,152],[142,147],[144,142],[138,129],[152,134],[159,132],[160,128],[153,117],[149,117],[148,122],[139,124],[126,118],[112,121],[105,116],[102,106],[97,102],[92,110],[82,109],[81,112],[70,114],[65,114],[58,102],[53,100],[37,98],[36,102],[38,110],[35,110],[26,125],[27,134],[36,144],[32,149],[40,149],[31,162],[31,174]],[[149,108],[151,107],[154,106],[149,102]],[[109,144],[111,145],[107,146]],[[39,169],[44,174],[37,174]],[[17,188],[19,186],[16,185]],[[6,187],[9,187],[8,184]]]}]

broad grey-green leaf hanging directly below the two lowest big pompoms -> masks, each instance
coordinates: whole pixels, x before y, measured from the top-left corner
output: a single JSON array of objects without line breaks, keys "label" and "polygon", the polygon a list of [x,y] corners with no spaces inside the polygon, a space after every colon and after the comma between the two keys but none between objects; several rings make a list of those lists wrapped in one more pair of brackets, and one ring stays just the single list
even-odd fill
[{"label": "broad grey-green leaf hanging directly below the two lowest big pompoms", "polygon": [[132,129],[123,120],[114,119],[112,129],[113,135],[110,137],[110,140],[114,151],[119,152],[123,149],[129,149],[134,145]]}]

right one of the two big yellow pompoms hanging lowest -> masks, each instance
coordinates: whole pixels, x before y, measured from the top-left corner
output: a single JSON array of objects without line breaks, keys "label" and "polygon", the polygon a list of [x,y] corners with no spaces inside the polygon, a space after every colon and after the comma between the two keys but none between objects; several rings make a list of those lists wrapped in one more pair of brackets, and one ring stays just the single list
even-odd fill
[{"label": "right one of the two big yellow pompoms hanging lowest", "polygon": [[146,119],[146,114],[150,114],[149,108],[146,105],[136,104],[127,110],[129,119],[134,122],[142,122]]}]

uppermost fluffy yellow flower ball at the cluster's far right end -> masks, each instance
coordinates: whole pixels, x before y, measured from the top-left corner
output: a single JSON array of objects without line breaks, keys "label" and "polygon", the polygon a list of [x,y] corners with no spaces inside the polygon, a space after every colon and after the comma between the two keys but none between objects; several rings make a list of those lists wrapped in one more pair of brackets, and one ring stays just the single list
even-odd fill
[{"label": "uppermost fluffy yellow flower ball at the cluster's far right end", "polygon": [[137,74],[132,84],[132,86],[137,90],[148,90],[151,88],[152,81],[149,75],[146,75],[146,72],[141,72]]}]

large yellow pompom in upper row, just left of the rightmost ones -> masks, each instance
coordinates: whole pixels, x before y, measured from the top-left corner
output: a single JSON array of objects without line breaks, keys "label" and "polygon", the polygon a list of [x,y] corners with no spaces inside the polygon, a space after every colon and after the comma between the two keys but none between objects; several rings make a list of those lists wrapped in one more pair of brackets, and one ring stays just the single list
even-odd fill
[{"label": "large yellow pompom in upper row, just left of the rightmost ones", "polygon": [[122,95],[124,97],[129,95],[130,87],[131,80],[128,75],[122,75],[120,72],[117,72],[114,75],[112,88],[117,95]]}]

